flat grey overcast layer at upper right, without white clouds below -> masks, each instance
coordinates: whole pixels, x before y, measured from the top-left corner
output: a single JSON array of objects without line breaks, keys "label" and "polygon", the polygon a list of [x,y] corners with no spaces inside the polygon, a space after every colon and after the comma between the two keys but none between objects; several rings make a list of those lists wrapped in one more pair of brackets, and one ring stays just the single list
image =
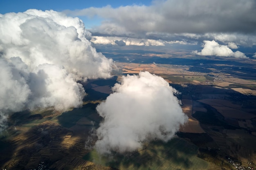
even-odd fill
[{"label": "flat grey overcast layer at upper right, without white clouds below", "polygon": [[100,26],[105,33],[164,32],[255,33],[254,0],[166,0],[151,6],[88,8],[65,11],[73,15],[98,15],[106,19]]}]

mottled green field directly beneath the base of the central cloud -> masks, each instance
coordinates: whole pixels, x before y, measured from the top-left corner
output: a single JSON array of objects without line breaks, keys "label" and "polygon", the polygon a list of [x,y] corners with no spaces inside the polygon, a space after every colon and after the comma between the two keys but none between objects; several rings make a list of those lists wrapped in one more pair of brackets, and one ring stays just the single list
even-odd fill
[{"label": "mottled green field directly beneath the base of the central cloud", "polygon": [[171,141],[153,141],[144,150],[130,155],[100,156],[92,150],[83,159],[120,170],[204,170],[208,163],[197,157],[198,147],[175,137]]}]

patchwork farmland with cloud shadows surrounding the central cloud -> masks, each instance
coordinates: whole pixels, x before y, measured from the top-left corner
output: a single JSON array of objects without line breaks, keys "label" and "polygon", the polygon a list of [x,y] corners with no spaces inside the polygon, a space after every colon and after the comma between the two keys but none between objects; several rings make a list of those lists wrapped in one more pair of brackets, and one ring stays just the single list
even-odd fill
[{"label": "patchwork farmland with cloud shadows surrounding the central cloud", "polygon": [[[230,69],[234,64],[207,64],[221,60],[206,60],[203,65],[198,60],[197,66],[189,65],[197,59],[186,57],[181,61],[173,58],[175,64],[166,64],[166,58],[156,58],[153,63],[147,58],[151,55],[145,55],[138,63],[134,63],[135,57],[121,60],[119,56],[122,62],[115,62],[112,78],[81,82],[87,95],[80,108],[63,113],[53,108],[13,113],[9,128],[0,136],[0,151],[5,153],[0,156],[0,167],[32,169],[46,160],[48,168],[57,170],[221,170],[224,165],[227,170],[232,168],[226,164],[226,157],[245,166],[248,161],[256,162],[254,73],[246,77],[247,69]],[[180,92],[177,98],[189,120],[177,132],[178,137],[167,143],[151,141],[137,152],[114,153],[111,160],[92,148],[85,149],[92,128],[97,129],[102,121],[96,106],[112,93],[111,87],[122,75],[139,71],[162,76]],[[40,129],[47,128],[55,130],[41,133]],[[91,139],[92,146],[95,141]],[[15,155],[22,154],[26,158],[16,159]]]}]

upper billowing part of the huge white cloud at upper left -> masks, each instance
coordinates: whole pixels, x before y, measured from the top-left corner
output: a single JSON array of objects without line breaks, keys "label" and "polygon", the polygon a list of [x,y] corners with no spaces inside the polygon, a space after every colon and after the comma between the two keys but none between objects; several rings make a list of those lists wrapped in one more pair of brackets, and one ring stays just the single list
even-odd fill
[{"label": "upper billowing part of the huge white cloud at upper left", "polygon": [[78,77],[110,77],[112,60],[91,46],[79,18],[72,20],[56,11],[28,10],[7,13],[0,19],[2,57],[19,56],[31,69],[48,63],[64,66]]}]

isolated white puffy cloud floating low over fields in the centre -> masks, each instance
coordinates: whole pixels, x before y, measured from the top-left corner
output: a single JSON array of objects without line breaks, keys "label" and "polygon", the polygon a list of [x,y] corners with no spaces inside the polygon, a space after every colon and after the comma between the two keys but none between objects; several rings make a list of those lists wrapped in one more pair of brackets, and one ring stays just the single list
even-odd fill
[{"label": "isolated white puffy cloud floating low over fields in the centre", "polygon": [[145,141],[168,141],[187,121],[177,91],[162,77],[141,72],[123,76],[105,102],[97,106],[104,118],[97,129],[100,153],[129,152]]}]

